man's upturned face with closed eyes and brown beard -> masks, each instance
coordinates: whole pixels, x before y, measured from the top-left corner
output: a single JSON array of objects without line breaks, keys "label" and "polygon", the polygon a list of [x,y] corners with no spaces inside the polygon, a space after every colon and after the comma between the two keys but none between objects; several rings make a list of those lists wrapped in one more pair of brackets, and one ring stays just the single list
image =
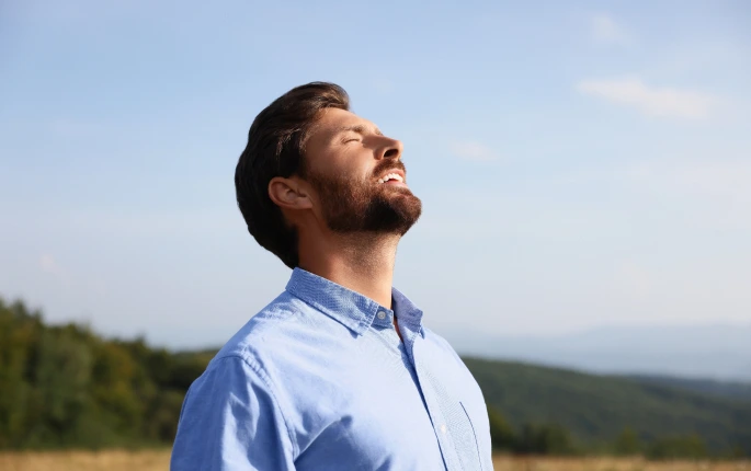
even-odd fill
[{"label": "man's upturned face with closed eyes and brown beard", "polygon": [[306,143],[306,177],[329,229],[402,236],[422,203],[407,186],[402,145],[348,111],[325,110]]}]

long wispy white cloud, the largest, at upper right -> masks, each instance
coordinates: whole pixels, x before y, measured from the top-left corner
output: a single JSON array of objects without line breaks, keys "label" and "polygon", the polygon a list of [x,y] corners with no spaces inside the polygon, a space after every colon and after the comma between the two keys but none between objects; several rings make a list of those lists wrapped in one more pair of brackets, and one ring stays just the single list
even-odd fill
[{"label": "long wispy white cloud, the largest, at upper right", "polygon": [[579,92],[615,104],[637,108],[649,116],[701,119],[717,104],[713,95],[673,88],[647,85],[638,77],[611,80],[582,80]]}]

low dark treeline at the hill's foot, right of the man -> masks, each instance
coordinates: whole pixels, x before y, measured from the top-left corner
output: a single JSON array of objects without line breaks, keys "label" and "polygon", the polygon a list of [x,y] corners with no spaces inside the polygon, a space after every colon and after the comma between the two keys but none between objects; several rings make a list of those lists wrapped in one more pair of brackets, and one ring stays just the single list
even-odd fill
[{"label": "low dark treeline at the hill's foot, right of the man", "polygon": [[703,459],[703,458],[743,458],[740,447],[724,453],[712,453],[702,437],[695,434],[659,437],[645,440],[631,428],[626,427],[610,443],[578,443],[569,430],[559,424],[525,423],[515,429],[503,414],[488,406],[490,439],[496,452],[512,455],[615,455],[644,456],[650,459]]}]

